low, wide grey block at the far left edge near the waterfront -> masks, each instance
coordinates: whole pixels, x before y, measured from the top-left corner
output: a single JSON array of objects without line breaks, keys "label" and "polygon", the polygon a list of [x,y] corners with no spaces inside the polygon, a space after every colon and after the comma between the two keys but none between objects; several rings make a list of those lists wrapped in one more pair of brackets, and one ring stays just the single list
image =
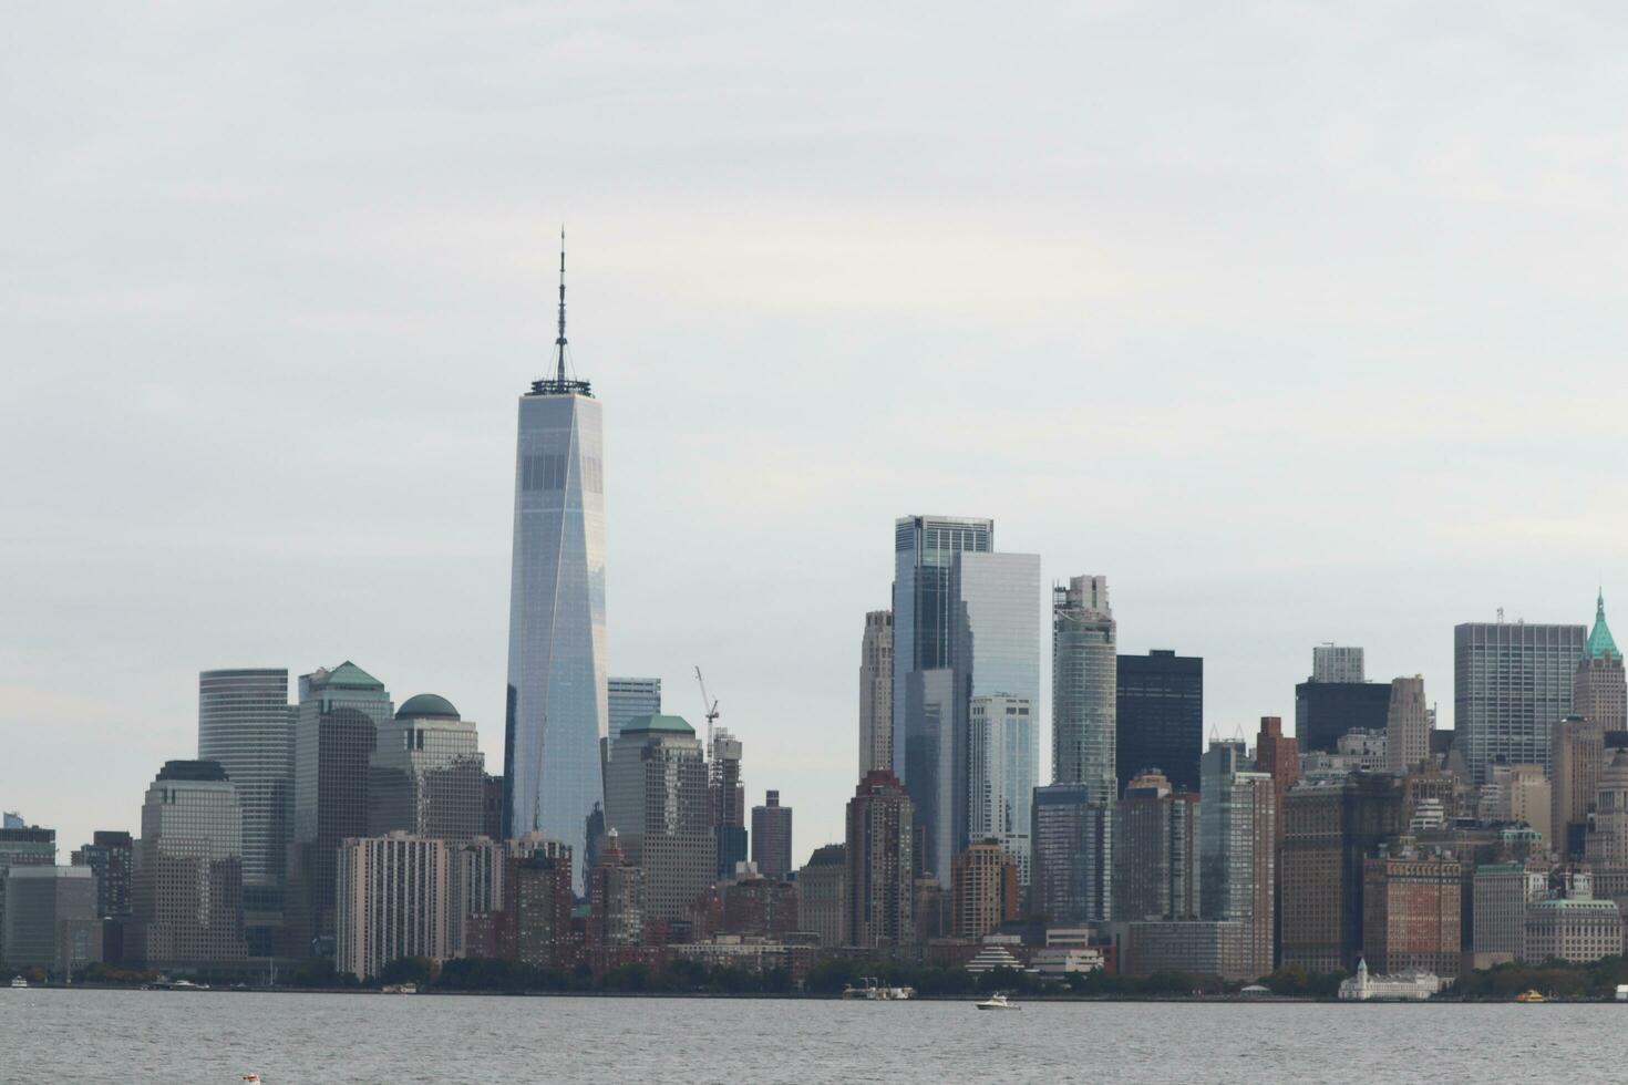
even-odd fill
[{"label": "low, wide grey block at the far left edge near the waterfront", "polygon": [[0,893],[7,898],[0,961],[47,968],[70,979],[103,958],[96,877],[90,869],[20,865],[0,878]]}]

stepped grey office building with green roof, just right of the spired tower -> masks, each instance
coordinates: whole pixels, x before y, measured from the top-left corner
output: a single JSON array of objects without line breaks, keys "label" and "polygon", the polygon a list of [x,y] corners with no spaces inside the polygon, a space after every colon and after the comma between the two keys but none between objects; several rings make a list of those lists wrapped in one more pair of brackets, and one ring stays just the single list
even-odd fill
[{"label": "stepped grey office building with green roof, just right of the spired tower", "polygon": [[[716,737],[716,735],[715,735]],[[645,916],[685,919],[718,874],[702,742],[681,716],[622,727],[606,763],[606,830],[645,875]]]}]

